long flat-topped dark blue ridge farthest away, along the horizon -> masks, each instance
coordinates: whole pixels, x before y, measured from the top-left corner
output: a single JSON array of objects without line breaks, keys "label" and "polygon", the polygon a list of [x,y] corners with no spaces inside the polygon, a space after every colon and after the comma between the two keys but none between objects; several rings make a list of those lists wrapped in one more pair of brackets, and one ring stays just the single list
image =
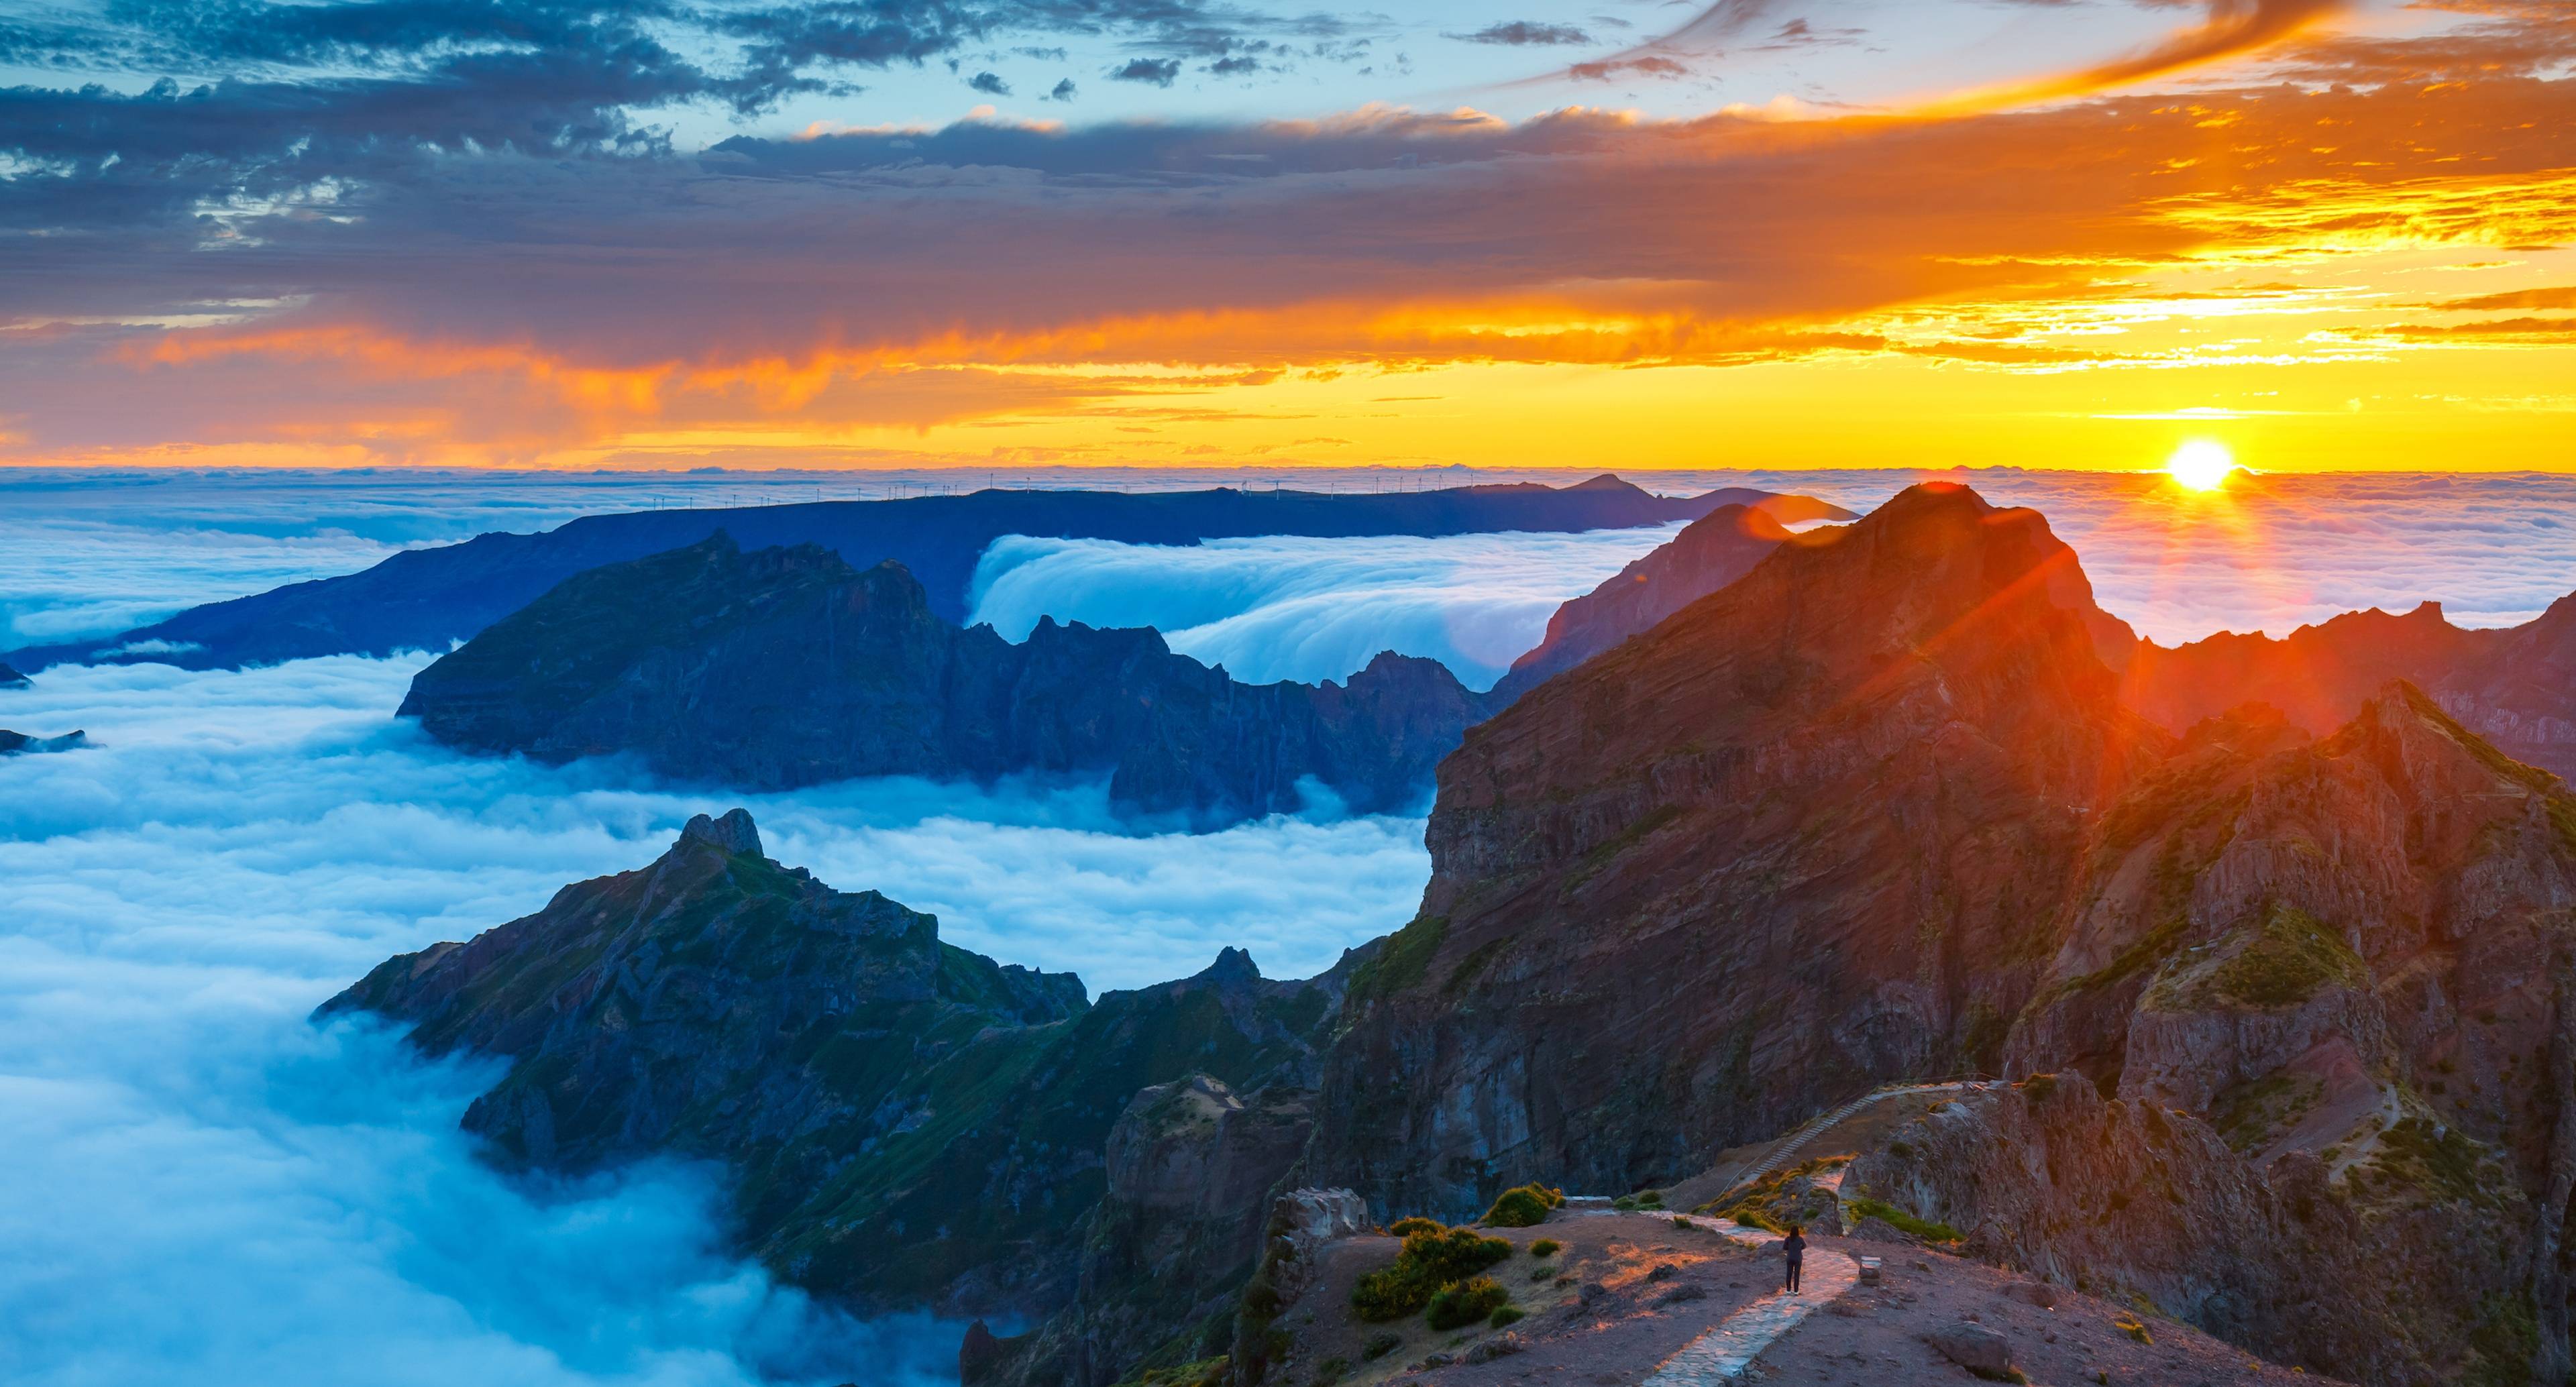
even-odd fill
[{"label": "long flat-topped dark blue ridge farthest away, along the horizon", "polygon": [[1484,535],[1499,530],[1618,530],[1754,504],[1783,522],[1850,520],[1814,497],[1723,486],[1656,497],[1615,476],[1577,486],[1533,481],[1437,491],[1012,491],[814,502],[732,510],[585,515],[536,535],[477,535],[407,548],[374,569],[296,582],[191,607],[103,641],[0,651],[21,669],[64,661],[165,661],[191,669],[276,664],[330,654],[443,651],[600,564],[703,543],[719,530],[747,548],[824,546],[853,566],[896,561],[922,579],[930,610],[966,620],[966,589],[1002,535],[1190,546],[1249,535]]}]

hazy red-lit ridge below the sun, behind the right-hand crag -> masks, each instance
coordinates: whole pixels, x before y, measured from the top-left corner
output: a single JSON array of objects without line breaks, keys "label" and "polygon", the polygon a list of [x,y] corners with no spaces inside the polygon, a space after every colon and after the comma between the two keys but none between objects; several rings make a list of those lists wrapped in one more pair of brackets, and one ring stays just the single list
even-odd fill
[{"label": "hazy red-lit ridge below the sun, behind the right-hand crag", "polygon": [[2504,754],[2576,777],[2576,594],[2509,630],[2468,630],[2439,602],[2406,615],[2344,612],[2290,636],[2218,633],[2190,646],[2148,641],[2123,672],[2123,697],[2172,731],[2244,703],[2280,708],[2326,736],[2383,684],[2406,679]]}]

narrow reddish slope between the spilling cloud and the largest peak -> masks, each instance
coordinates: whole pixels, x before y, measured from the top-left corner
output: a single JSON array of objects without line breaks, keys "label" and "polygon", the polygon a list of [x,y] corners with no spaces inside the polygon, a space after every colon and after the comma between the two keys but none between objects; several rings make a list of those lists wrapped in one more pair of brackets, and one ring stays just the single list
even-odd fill
[{"label": "narrow reddish slope between the spilling cloud and the largest peak", "polygon": [[1494,684],[1494,705],[1651,630],[1659,620],[1741,579],[1788,540],[1788,528],[1759,507],[1718,507],[1592,592],[1556,607],[1548,633]]}]

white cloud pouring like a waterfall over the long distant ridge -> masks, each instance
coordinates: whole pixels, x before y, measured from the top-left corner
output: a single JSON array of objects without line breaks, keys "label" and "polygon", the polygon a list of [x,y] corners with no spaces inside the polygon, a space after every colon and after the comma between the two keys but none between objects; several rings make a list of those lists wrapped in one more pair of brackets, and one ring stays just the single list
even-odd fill
[{"label": "white cloud pouring like a waterfall over the long distant ridge", "polygon": [[974,615],[1023,641],[1041,615],[1151,625],[1236,679],[1345,679],[1378,651],[1430,656],[1489,690],[1592,592],[1680,525],[1582,535],[1257,538],[1126,546],[1005,535],[974,576]]}]

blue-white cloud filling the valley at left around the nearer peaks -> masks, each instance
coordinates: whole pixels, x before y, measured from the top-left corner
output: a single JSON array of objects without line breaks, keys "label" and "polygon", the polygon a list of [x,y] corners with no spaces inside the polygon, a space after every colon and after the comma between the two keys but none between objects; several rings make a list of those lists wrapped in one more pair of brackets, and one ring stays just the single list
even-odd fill
[{"label": "blue-white cloud filling the valley at left around the nearer peaks", "polygon": [[307,1011],[392,952],[649,862],[750,803],[768,847],[1097,991],[1247,944],[1273,975],[1401,924],[1419,821],[1113,831],[1103,793],[734,798],[446,754],[417,661],[54,669],[0,726],[0,1379],[902,1384],[958,1325],[860,1325],[721,1256],[711,1181],[523,1189],[456,1130],[482,1068]]}]

